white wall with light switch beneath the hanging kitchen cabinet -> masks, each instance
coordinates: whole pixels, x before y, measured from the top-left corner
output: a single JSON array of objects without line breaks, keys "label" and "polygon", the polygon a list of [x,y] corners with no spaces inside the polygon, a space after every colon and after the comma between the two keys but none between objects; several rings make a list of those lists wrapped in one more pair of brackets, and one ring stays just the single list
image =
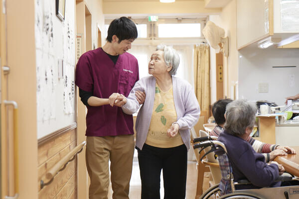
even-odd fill
[{"label": "white wall with light switch beneath the hanging kitchen cabinet", "polygon": [[[299,93],[299,49],[259,49],[239,51],[239,98],[269,100],[283,105],[285,98]],[[296,68],[272,68],[297,66]],[[293,80],[293,81],[292,81]],[[259,93],[259,83],[268,83],[269,92]]]}]

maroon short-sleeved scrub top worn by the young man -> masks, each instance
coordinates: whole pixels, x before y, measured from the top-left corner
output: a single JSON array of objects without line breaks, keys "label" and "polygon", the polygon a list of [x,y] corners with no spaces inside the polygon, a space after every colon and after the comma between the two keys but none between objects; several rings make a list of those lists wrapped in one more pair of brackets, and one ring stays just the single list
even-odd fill
[{"label": "maroon short-sleeved scrub top worn by the young man", "polygon": [[[113,93],[128,97],[138,80],[138,61],[127,52],[114,64],[103,49],[91,50],[80,57],[76,67],[75,84],[98,98],[108,99]],[[87,105],[87,109],[86,136],[134,134],[133,117],[121,107]]]}]

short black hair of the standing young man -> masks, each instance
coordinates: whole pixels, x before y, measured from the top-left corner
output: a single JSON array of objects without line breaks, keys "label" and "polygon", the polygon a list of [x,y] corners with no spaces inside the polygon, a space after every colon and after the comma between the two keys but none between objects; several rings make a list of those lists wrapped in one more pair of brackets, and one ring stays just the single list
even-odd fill
[{"label": "short black hair of the standing young man", "polygon": [[112,42],[112,36],[116,35],[119,38],[118,43],[122,40],[136,39],[138,36],[137,28],[135,23],[123,16],[121,18],[114,19],[108,28],[107,41]]}]

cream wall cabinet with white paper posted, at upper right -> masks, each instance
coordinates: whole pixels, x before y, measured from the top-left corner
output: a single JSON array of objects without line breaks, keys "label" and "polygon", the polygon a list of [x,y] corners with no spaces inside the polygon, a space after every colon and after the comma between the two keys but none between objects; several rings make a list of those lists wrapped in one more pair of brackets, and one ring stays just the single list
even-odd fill
[{"label": "cream wall cabinet with white paper posted, at upper right", "polygon": [[283,46],[299,40],[298,1],[236,0],[238,50],[259,42]]}]

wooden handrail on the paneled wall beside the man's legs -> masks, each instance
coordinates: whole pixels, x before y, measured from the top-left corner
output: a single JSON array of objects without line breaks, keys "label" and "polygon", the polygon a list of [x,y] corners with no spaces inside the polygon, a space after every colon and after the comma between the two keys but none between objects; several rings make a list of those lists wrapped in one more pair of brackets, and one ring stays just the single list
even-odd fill
[{"label": "wooden handrail on the paneled wall beside the man's legs", "polygon": [[66,156],[64,156],[59,162],[57,162],[47,173],[46,173],[46,179],[48,180],[47,183],[43,183],[41,181],[41,189],[52,182],[54,176],[62,171],[67,163],[74,160],[76,155],[80,153],[83,150],[83,147],[86,145],[86,141],[81,142],[78,146],[76,146],[73,150],[71,150]]}]

